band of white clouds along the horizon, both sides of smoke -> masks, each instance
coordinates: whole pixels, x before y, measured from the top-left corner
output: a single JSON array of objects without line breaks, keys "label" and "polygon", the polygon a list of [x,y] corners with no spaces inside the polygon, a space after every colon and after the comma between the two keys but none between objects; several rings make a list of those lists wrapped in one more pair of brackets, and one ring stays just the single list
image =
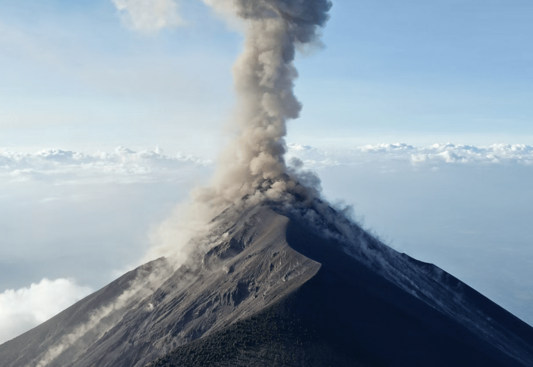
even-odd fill
[{"label": "band of white clouds along the horizon, both sides of smoke", "polygon": [[[415,147],[405,143],[362,145],[352,149],[319,149],[289,143],[287,161],[297,157],[305,168],[369,162],[403,162],[434,168],[447,164],[533,165],[533,147],[523,144],[473,145],[434,144]],[[162,149],[135,152],[117,147],[109,152],[83,153],[44,149],[35,153],[0,151],[0,177],[8,181],[53,180],[73,183],[76,179],[122,183],[164,181],[183,177],[191,170],[212,170],[214,160],[183,153],[165,154]]]}]

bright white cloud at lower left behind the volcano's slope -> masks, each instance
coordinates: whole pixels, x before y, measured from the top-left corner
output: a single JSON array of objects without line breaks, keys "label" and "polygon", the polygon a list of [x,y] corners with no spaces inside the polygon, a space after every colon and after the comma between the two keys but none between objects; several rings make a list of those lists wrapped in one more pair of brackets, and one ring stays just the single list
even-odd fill
[{"label": "bright white cloud at lower left behind the volcano's slope", "polygon": [[92,293],[72,279],[42,279],[29,287],[0,293],[0,343],[44,323],[71,304]]}]

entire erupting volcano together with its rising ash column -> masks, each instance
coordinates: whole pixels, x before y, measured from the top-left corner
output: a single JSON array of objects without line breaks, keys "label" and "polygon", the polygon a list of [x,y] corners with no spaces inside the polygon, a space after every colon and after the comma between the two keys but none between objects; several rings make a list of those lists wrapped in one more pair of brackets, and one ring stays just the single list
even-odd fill
[{"label": "entire erupting volcano together with its rising ash column", "polygon": [[331,1],[204,2],[246,24],[238,136],[192,206],[217,217],[180,266],[128,272],[0,345],[0,367],[533,366],[532,327],[380,243],[287,166],[296,49],[319,43]]}]

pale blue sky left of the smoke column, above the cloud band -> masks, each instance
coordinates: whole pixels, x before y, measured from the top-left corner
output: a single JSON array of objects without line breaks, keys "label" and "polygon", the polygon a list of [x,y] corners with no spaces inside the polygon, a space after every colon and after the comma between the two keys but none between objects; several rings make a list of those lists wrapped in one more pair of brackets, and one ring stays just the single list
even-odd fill
[{"label": "pale blue sky left of the smoke column, above the cloud band", "polygon": [[189,26],[144,35],[110,1],[3,2],[0,144],[175,143],[219,126],[240,36],[192,5]]}]

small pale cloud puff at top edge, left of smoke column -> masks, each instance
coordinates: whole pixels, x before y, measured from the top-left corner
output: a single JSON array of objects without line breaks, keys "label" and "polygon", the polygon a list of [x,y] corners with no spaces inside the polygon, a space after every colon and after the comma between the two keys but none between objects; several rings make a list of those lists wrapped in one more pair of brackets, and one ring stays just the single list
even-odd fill
[{"label": "small pale cloud puff at top edge, left of smoke column", "polygon": [[157,33],[163,28],[184,24],[176,0],[112,0],[121,21],[142,33]]}]

